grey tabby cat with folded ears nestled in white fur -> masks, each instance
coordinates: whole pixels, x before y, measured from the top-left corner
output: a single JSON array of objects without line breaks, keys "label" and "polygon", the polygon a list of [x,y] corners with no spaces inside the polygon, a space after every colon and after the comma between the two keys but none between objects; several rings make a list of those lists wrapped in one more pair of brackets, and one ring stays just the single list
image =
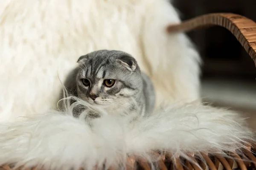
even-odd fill
[{"label": "grey tabby cat with folded ears nestled in white fur", "polygon": [[[67,76],[67,91],[106,111],[137,110],[142,116],[154,108],[154,87],[137,61],[123,51],[94,51],[78,59]],[[79,116],[74,111],[74,116]],[[96,116],[97,117],[97,116]]]}]

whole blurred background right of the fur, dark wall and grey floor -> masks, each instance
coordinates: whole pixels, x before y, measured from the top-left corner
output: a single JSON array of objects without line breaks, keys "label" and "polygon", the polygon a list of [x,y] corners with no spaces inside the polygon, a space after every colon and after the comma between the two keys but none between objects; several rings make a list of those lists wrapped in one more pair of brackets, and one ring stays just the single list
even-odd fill
[{"label": "whole blurred background right of the fur, dark wall and grey floor", "polygon": [[[198,15],[231,12],[256,22],[256,0],[173,0],[182,20]],[[256,130],[256,68],[236,38],[225,28],[187,34],[200,51],[202,96],[205,102],[239,111]]]}]

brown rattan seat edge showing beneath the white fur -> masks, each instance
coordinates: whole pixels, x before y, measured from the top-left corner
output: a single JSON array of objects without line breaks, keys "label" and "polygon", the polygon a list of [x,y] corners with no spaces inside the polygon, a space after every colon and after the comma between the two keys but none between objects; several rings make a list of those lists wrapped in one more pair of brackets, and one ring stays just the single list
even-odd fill
[{"label": "brown rattan seat edge showing beneath the white fur", "polygon": [[[244,156],[239,156],[238,153],[229,153],[229,158],[224,158],[221,155],[209,155],[207,153],[200,153],[203,157],[204,161],[201,159],[197,159],[198,155],[195,154],[187,154],[194,162],[176,156],[174,157],[170,154],[160,154],[153,153],[154,156],[158,157],[157,162],[149,163],[145,161],[145,159],[136,157],[136,156],[128,156],[127,157],[127,170],[232,170],[232,169],[240,169],[240,170],[253,170],[256,167],[256,157],[253,153],[255,153],[256,147],[248,146],[248,150],[244,149],[244,156],[246,156],[247,161],[244,160]],[[249,151],[250,150],[250,151]],[[205,164],[205,163],[207,164]],[[200,168],[200,167],[201,168]],[[95,170],[98,170],[97,166]],[[23,167],[14,169],[10,165],[3,165],[0,167],[0,170],[24,170]],[[26,168],[25,170],[45,170],[44,168],[31,167]],[[83,170],[80,168],[79,170]],[[111,167],[108,170],[119,170],[119,167]]]}]

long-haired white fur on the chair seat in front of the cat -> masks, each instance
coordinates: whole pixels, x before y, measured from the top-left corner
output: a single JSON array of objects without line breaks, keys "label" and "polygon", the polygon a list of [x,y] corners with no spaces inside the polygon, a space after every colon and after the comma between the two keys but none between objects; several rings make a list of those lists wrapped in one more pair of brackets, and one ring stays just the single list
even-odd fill
[{"label": "long-haired white fur on the chair seat in front of the cat", "polygon": [[154,161],[151,150],[180,156],[204,151],[224,155],[224,150],[241,151],[247,142],[255,142],[236,113],[201,104],[169,105],[132,121],[135,117],[103,114],[90,127],[67,110],[3,123],[0,163],[42,165],[52,170],[92,169],[104,162],[107,167],[124,166],[127,154]]}]

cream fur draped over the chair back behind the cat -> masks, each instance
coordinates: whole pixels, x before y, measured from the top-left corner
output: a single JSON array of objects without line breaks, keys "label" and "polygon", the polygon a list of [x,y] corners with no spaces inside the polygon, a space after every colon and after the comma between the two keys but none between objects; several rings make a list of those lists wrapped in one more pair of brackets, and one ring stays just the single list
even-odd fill
[{"label": "cream fur draped over the chair back behind the cat", "polygon": [[0,121],[54,108],[60,80],[99,49],[132,54],[154,82],[157,106],[198,99],[198,54],[184,34],[166,32],[179,22],[168,0],[2,0]]}]

